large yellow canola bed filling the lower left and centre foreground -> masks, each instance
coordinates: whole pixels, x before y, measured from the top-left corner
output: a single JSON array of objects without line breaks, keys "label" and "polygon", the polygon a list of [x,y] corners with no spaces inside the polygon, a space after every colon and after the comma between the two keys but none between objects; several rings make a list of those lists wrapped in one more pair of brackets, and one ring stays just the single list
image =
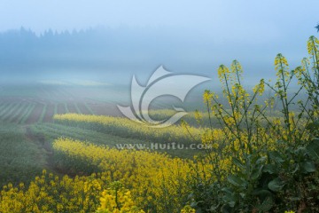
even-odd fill
[{"label": "large yellow canola bed filling the lower left and centre foreground", "polygon": [[[191,193],[188,181],[192,168],[200,164],[207,172],[200,174],[205,178],[212,167],[167,154],[117,150],[70,138],[57,139],[53,149],[60,166],[64,163],[79,172],[97,167],[100,172],[61,178],[44,170],[28,187],[5,185],[0,193],[0,212],[180,212]],[[113,181],[121,181],[129,192],[121,189],[119,194],[127,204],[110,210],[105,206],[112,203]],[[125,211],[126,208],[136,211]]]}]

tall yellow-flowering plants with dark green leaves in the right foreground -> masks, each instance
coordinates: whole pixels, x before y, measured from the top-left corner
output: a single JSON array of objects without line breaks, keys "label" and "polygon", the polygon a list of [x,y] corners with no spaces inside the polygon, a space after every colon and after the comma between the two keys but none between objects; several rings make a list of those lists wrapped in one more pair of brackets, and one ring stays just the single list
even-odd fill
[{"label": "tall yellow-flowering plants with dark green leaves in the right foreground", "polygon": [[[192,179],[192,207],[198,212],[319,210],[315,205],[319,198],[318,40],[311,36],[307,46],[309,59],[292,71],[278,54],[275,85],[262,79],[253,93],[242,85],[243,70],[237,60],[230,69],[219,67],[226,100],[205,91],[204,103],[208,116],[220,122],[223,137],[215,137],[212,125],[202,134],[202,143],[214,145],[202,156],[214,169],[209,181]],[[295,79],[300,87],[292,92]],[[258,97],[265,85],[274,97],[261,104]],[[306,99],[297,100],[301,95]],[[268,109],[275,101],[282,115],[272,117]],[[296,105],[299,109],[292,110]]]}]

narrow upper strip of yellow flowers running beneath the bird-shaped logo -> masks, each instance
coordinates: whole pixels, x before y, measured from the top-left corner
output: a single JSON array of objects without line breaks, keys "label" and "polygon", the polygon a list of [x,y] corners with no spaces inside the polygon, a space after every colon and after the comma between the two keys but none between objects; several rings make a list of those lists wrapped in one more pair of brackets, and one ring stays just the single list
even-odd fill
[{"label": "narrow upper strip of yellow flowers running beneath the bird-shaped logo", "polygon": [[[152,128],[127,118],[88,114],[55,114],[54,122],[82,129],[97,130],[123,138],[137,138],[153,143],[199,143],[201,129],[182,125]],[[189,134],[191,133],[191,134]]]}]

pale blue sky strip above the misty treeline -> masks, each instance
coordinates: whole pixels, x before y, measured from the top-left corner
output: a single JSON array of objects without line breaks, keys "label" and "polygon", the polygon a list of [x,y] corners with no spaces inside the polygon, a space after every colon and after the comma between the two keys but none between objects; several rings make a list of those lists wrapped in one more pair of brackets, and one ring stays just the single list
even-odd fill
[{"label": "pale blue sky strip above the misty treeline", "polygon": [[98,25],[168,26],[191,28],[216,39],[237,36],[240,41],[258,36],[259,41],[268,41],[291,33],[313,34],[312,27],[319,21],[318,6],[316,0],[2,0],[0,29],[24,26],[42,32],[48,28],[63,30]]}]

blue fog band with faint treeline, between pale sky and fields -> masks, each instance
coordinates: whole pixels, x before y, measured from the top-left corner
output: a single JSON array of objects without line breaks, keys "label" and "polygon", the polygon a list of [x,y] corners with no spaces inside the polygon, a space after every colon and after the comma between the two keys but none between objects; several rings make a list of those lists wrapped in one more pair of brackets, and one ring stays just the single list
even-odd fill
[{"label": "blue fog band with faint treeline, between pale sky and fields", "polygon": [[48,29],[35,34],[19,28],[0,34],[1,83],[123,84],[132,76],[144,83],[159,66],[175,74],[204,75],[217,83],[217,68],[239,60],[248,84],[275,76],[273,60],[281,45],[291,67],[307,56],[305,40],[216,43],[214,36],[186,28]]}]

